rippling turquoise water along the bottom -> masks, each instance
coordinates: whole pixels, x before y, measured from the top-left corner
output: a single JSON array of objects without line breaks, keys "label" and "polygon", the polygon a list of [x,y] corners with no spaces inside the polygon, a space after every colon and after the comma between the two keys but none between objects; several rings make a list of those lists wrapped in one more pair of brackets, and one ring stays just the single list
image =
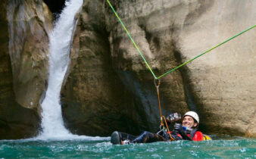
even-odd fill
[{"label": "rippling turquoise water along the bottom", "polygon": [[256,139],[219,138],[204,142],[112,145],[109,139],[2,140],[0,158],[255,158]]}]

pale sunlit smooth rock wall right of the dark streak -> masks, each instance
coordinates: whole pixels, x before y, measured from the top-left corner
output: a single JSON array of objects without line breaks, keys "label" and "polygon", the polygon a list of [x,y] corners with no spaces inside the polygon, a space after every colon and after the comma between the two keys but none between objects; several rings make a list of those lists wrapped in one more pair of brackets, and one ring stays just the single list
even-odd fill
[{"label": "pale sunlit smooth rock wall right of the dark streak", "polygon": [[[256,2],[195,5],[177,31],[184,61],[255,25]],[[256,136],[256,28],[188,64],[189,85],[208,131]]]}]

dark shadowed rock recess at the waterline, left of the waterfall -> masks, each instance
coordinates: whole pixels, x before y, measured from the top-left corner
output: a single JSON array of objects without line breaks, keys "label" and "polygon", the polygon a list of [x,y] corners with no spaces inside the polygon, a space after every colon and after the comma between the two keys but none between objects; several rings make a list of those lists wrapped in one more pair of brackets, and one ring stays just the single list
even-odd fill
[{"label": "dark shadowed rock recess at the waterline, left of the waterfall", "polygon": [[40,118],[36,111],[12,101],[14,94],[0,98],[0,139],[25,139],[39,133]]}]

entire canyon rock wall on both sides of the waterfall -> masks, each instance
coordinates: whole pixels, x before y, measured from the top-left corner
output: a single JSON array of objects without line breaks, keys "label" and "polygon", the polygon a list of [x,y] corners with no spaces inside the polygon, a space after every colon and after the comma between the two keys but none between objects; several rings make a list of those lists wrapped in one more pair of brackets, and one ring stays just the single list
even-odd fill
[{"label": "entire canyon rock wall on both sides of the waterfall", "polygon": [[[157,76],[255,25],[256,2],[111,1]],[[52,13],[42,2],[0,6],[0,139],[33,136],[47,86]],[[139,134],[159,126],[154,78],[103,0],[84,0],[61,91],[72,133]],[[209,134],[256,136],[255,28],[161,79],[162,114],[197,111]],[[10,48],[8,48],[8,46]]]}]

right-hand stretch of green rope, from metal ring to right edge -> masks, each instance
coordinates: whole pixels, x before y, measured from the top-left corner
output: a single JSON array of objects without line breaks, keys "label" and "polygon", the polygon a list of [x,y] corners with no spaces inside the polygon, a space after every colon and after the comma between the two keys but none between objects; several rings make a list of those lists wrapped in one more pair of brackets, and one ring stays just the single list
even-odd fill
[{"label": "right-hand stretch of green rope, from metal ring to right edge", "polygon": [[[247,32],[248,30],[251,30],[251,29],[254,28],[254,27],[256,27],[256,25],[254,25],[254,26],[252,26],[252,27],[249,27],[247,30],[245,30],[245,31],[243,31],[243,32],[241,32],[241,33],[239,33],[239,34],[237,34],[236,36],[240,36],[242,33],[245,33],[245,32]],[[233,36],[232,38],[227,39],[225,42],[221,42],[219,45],[214,46],[213,48],[209,49],[208,51],[204,51],[204,53],[202,53],[201,55],[204,55],[204,54],[208,53],[209,51],[213,50],[214,48],[217,48],[218,46],[223,45],[224,43],[228,42],[229,40],[236,38],[236,36]],[[195,58],[199,58],[201,55],[198,55],[198,56],[195,57]],[[167,75],[168,73],[173,72],[173,70],[177,70],[178,68],[182,67],[183,65],[188,64],[189,62],[195,60],[195,58],[192,58],[192,59],[190,59],[189,61],[186,61],[185,63],[180,64],[179,66],[173,68],[172,70],[169,70],[167,73],[164,73],[163,75],[158,76],[157,79],[160,79],[161,77]]]}]

